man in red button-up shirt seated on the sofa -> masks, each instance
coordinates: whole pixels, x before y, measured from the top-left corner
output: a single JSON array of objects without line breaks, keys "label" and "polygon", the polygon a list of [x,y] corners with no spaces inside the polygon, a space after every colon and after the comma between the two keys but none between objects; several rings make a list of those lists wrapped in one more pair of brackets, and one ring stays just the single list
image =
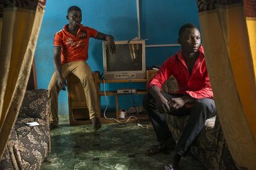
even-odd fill
[{"label": "man in red button-up shirt seated on the sofa", "polygon": [[[181,26],[178,42],[181,44],[181,50],[163,63],[148,84],[149,94],[143,99],[143,105],[160,142],[158,147],[148,150],[148,155],[174,149],[166,169],[177,168],[181,156],[189,151],[206,119],[216,114],[198,28],[192,24]],[[161,87],[171,75],[176,78],[179,90],[175,94],[161,92]],[[174,116],[189,115],[177,144],[169,131],[163,113]]]}]

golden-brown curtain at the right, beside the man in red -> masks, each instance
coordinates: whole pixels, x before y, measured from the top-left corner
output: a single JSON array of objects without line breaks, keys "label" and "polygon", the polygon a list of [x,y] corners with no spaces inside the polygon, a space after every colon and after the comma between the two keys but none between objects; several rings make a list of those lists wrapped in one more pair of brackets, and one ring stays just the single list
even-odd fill
[{"label": "golden-brown curtain at the right, beside the man in red", "polygon": [[256,1],[198,0],[206,63],[223,134],[241,169],[256,168]]}]

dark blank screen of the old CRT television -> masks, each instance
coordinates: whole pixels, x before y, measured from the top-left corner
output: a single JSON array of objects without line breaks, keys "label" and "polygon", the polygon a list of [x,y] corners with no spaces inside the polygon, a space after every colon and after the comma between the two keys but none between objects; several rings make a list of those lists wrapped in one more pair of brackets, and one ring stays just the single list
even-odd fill
[{"label": "dark blank screen of the old CRT television", "polygon": [[106,70],[142,70],[142,44],[116,44],[116,54],[110,54],[107,48]]}]

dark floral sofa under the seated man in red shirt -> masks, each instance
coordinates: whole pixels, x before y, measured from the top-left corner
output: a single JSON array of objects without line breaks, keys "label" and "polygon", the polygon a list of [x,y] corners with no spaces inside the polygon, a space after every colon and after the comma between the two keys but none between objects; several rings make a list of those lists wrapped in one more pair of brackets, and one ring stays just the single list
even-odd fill
[{"label": "dark floral sofa under the seated man in red shirt", "polygon": [[[164,84],[163,91],[171,93],[176,90],[176,79],[171,77]],[[188,116],[177,117],[168,114],[164,116],[174,139],[177,141],[181,137]],[[207,169],[237,169],[224,139],[218,115],[207,119],[205,127],[190,148],[190,153]]]}]

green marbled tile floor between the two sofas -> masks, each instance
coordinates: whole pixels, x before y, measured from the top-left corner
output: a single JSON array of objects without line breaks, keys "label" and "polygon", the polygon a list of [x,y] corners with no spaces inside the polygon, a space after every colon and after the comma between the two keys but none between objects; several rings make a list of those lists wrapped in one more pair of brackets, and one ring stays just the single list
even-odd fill
[{"label": "green marbled tile floor between the two sofas", "polygon": [[[135,123],[126,127],[103,124],[94,132],[92,126],[69,126],[68,115],[60,116],[60,127],[51,131],[51,163],[46,169],[164,169],[170,155],[147,156],[145,152],[157,144],[153,129]],[[181,169],[204,169],[188,155],[180,162]]]}]

